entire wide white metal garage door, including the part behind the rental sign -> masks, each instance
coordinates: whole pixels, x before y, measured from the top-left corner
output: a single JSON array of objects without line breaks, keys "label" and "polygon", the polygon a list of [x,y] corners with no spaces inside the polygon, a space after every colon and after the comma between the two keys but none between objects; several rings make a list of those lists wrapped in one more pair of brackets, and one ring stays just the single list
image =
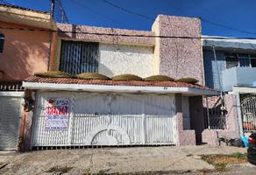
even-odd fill
[{"label": "entire wide white metal garage door, including the part behind the rental sign", "polygon": [[40,93],[37,110],[32,146],[175,144],[174,95]]}]

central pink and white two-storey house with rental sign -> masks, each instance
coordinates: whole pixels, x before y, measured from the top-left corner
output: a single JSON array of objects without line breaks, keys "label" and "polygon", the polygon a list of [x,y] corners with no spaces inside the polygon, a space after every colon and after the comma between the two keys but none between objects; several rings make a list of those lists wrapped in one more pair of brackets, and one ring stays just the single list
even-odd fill
[{"label": "central pink and white two-storey house with rental sign", "polygon": [[165,74],[193,77],[199,85],[32,76],[23,83],[32,100],[24,124],[25,149],[202,142],[202,95],[216,93],[201,86],[200,36],[200,19],[165,15],[156,18],[152,31],[58,24],[54,70],[110,77]]}]

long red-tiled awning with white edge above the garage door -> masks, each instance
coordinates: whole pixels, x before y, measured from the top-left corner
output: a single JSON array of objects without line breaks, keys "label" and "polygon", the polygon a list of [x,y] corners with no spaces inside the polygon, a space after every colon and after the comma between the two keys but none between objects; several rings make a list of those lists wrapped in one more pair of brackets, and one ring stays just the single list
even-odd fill
[{"label": "long red-tiled awning with white edge above the garage door", "polygon": [[23,87],[36,90],[217,95],[217,91],[211,88],[175,81],[103,81],[32,76],[23,81]]}]

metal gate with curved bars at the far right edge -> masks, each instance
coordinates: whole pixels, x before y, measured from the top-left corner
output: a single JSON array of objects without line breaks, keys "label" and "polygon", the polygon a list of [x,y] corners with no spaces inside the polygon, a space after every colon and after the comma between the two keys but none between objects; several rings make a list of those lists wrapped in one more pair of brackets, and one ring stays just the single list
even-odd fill
[{"label": "metal gate with curved bars at the far right edge", "polygon": [[240,95],[244,132],[256,130],[256,95]]}]

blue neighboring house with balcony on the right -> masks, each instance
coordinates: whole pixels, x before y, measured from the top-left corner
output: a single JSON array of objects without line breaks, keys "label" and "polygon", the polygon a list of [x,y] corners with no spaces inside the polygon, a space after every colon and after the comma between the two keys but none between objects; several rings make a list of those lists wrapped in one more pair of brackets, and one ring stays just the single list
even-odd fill
[{"label": "blue neighboring house with balcony on the right", "polygon": [[[203,36],[203,66],[205,85],[224,93],[227,115],[224,123],[210,122],[210,128],[224,128],[219,137],[239,137],[256,130],[256,41],[253,39],[207,38]],[[216,52],[216,59],[214,56]],[[211,97],[211,111],[219,115],[219,97]],[[209,99],[209,100],[210,100]],[[227,102],[228,99],[228,102]],[[216,103],[216,105],[214,105]],[[205,105],[206,106],[206,105]],[[232,115],[231,115],[232,114]],[[214,117],[214,116],[211,116]],[[226,123],[225,121],[228,121]],[[222,126],[222,125],[225,126]],[[222,132],[224,132],[222,134]],[[216,133],[217,134],[217,133]]]}]

